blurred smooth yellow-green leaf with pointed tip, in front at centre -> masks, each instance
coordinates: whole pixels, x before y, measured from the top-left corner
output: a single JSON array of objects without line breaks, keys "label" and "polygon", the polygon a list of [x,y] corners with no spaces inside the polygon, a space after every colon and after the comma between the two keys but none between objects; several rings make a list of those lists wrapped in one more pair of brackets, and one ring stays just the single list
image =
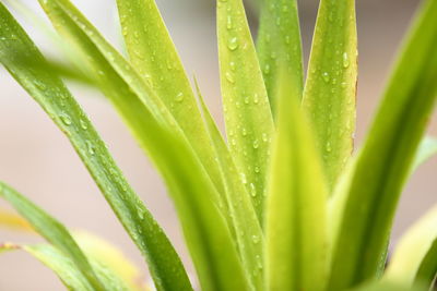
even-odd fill
[{"label": "blurred smooth yellow-green leaf with pointed tip, in front at centre", "polygon": [[290,85],[281,82],[277,90],[279,126],[267,204],[267,286],[323,290],[328,192],[309,123]]}]

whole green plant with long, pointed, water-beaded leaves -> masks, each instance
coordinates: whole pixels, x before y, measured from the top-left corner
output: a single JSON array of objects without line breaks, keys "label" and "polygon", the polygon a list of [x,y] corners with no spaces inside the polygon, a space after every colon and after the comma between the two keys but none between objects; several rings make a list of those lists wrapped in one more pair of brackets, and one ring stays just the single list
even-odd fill
[{"label": "whole green plant with long, pointed, water-beaded leaves", "polygon": [[[192,88],[154,0],[117,0],[128,57],[70,0],[39,0],[82,70],[47,60],[0,2],[0,62],[86,166],[144,255],[157,290],[193,290],[172,243],[128,184],[61,77],[98,88],[154,162],[173,198],[200,288],[427,290],[437,274],[436,210],[388,241],[402,187],[437,153],[425,137],[437,96],[437,1],[424,0],[381,104],[354,153],[357,33],[353,0],[320,0],[304,80],[296,0],[264,0],[255,44],[241,0],[217,0],[226,138]],[[47,243],[1,243],[52,269],[69,290],[145,290],[106,242],[71,234],[0,183]]]}]

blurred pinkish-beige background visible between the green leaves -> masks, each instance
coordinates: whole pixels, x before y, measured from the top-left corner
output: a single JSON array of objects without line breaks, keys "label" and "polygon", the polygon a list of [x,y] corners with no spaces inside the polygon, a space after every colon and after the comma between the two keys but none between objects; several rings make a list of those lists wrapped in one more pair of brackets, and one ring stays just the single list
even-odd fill
[{"label": "blurred pinkish-beige background visible between the green leaves", "polygon": [[[115,1],[72,0],[106,37],[120,45]],[[35,0],[23,1],[39,15]],[[357,0],[359,82],[356,145],[359,146],[380,99],[397,48],[420,1]],[[316,0],[299,1],[305,59],[309,53]],[[213,0],[157,0],[189,75],[196,74],[223,129]],[[256,32],[256,12],[248,9]],[[16,13],[15,13],[16,15]],[[32,22],[19,17],[45,51],[52,45]],[[437,81],[436,81],[437,82]],[[149,209],[166,230],[184,262],[192,268],[165,187],[110,105],[83,85],[70,86],[106,141],[110,151]],[[437,135],[436,114],[429,132]],[[437,159],[413,175],[401,199],[392,244],[421,214],[437,202]],[[96,233],[146,267],[67,138],[27,94],[0,69],[0,180],[7,181],[72,229]],[[0,202],[1,208],[8,206]],[[34,242],[32,235],[0,230],[0,242]],[[0,291],[63,290],[56,276],[22,252],[0,256]]]}]

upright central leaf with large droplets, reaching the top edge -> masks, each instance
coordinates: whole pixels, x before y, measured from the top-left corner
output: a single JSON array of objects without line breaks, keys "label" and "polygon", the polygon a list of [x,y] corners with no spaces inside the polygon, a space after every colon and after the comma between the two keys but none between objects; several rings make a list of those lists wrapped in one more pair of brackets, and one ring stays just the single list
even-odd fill
[{"label": "upright central leaf with large droplets, reaching the top edge", "polygon": [[265,193],[273,119],[241,0],[217,0],[220,75],[226,133],[259,221]]}]

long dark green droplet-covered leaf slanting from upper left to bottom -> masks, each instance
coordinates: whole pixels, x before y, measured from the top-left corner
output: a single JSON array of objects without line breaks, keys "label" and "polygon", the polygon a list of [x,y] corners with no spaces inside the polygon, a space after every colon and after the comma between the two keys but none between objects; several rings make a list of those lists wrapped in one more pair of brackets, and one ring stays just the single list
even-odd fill
[{"label": "long dark green droplet-covered leaf slanting from upper left to bottom", "polygon": [[[0,13],[0,62],[67,134],[127,232],[145,255],[157,288],[190,290],[188,276],[170,242],[127,183],[85,113],[56,75],[42,66],[32,66],[35,60],[44,63],[44,57],[3,5]],[[10,58],[17,52],[28,62]]]}]

